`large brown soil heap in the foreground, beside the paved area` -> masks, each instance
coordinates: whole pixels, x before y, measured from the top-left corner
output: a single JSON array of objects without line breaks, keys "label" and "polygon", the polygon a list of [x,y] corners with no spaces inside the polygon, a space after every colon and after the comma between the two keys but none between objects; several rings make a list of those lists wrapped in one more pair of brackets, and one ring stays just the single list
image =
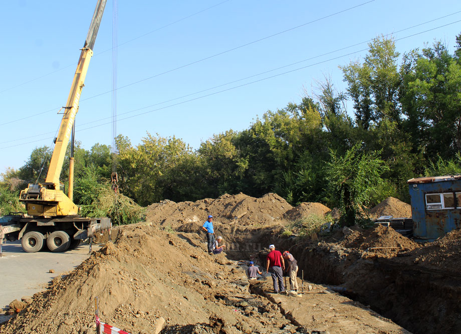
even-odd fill
[{"label": "large brown soil heap in the foreground, beside the paved area", "polygon": [[160,317],[164,332],[193,332],[196,324],[206,333],[271,333],[290,323],[270,311],[267,299],[250,294],[236,263],[203,246],[158,226],[127,227],[115,243],[37,293],[0,332],[92,333],[95,297],[101,321],[131,333],[152,332]]}]

